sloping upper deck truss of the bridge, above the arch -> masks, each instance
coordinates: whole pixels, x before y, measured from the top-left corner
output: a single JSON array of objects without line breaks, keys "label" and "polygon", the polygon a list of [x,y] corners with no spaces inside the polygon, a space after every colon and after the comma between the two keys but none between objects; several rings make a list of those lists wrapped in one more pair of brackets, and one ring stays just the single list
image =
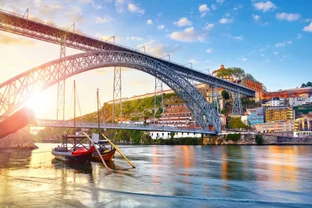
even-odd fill
[{"label": "sloping upper deck truss of the bridge, above the arch", "polygon": [[173,71],[180,73],[182,76],[188,76],[192,80],[196,80],[200,83],[208,85],[218,85],[219,87],[226,89],[229,92],[237,92],[245,94],[247,96],[255,96],[255,91],[236,83],[231,83],[227,80],[222,80],[211,76],[209,74],[196,71],[189,67],[177,64],[170,60],[164,60],[155,55],[143,53],[135,49],[130,49],[126,46],[100,40],[96,37],[90,37],[82,33],[73,31],[67,31],[64,28],[45,24],[33,19],[26,19],[20,15],[16,15],[10,12],[0,10],[0,30],[7,31],[9,33],[15,33],[18,35],[24,35],[26,37],[32,37],[37,40],[43,40],[45,42],[52,42],[54,44],[62,44],[62,37],[66,35],[66,46],[73,49],[79,49],[82,51],[123,51],[135,53],[137,55],[144,55],[146,58],[153,58],[158,62],[170,67]]}]

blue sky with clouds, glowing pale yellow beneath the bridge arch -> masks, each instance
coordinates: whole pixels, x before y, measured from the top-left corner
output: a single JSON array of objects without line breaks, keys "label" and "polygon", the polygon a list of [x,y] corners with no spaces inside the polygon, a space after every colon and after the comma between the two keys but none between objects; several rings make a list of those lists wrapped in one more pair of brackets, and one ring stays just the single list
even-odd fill
[{"label": "blue sky with clouds, glowing pale yellow beneath the bridge arch", "polygon": [[[0,0],[0,9],[23,15],[28,8],[30,18],[64,28],[75,23],[76,31],[103,40],[114,35],[118,44],[170,54],[171,60],[191,62],[206,73],[220,64],[241,67],[268,91],[311,81],[311,6],[306,0]],[[59,56],[59,45],[0,31],[0,83]],[[114,70],[105,68],[67,79],[65,119],[73,116],[73,80],[80,115],[96,110],[96,88],[102,103],[112,100],[113,76]],[[121,79],[123,97],[154,91],[155,78],[141,71],[123,68]],[[56,98],[54,85],[26,106],[37,118],[55,119]]]}]

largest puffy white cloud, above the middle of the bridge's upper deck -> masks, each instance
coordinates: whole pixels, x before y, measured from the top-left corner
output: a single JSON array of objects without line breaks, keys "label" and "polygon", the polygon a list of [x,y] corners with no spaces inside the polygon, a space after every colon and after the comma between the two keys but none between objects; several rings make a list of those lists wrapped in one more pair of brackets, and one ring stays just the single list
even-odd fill
[{"label": "largest puffy white cloud, above the middle of the bridge's upper deck", "polygon": [[169,35],[172,40],[178,40],[181,42],[203,42],[205,40],[205,34],[197,33],[193,27],[186,28],[184,31],[176,31]]}]

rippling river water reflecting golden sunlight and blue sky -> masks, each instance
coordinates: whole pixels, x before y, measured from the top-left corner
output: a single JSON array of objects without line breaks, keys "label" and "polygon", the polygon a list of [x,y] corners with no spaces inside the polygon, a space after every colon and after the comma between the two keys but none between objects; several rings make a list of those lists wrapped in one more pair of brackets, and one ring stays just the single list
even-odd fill
[{"label": "rippling river water reflecting golden sunlight and blue sky", "polygon": [[0,151],[0,207],[312,206],[312,146],[120,146],[112,175],[37,146]]}]

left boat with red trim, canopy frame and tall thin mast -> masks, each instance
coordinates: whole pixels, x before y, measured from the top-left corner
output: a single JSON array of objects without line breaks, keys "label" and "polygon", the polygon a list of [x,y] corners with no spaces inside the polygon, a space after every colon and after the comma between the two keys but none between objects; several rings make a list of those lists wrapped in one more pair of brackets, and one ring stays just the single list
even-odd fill
[{"label": "left boat with red trim, canopy frame and tall thin mast", "polygon": [[73,81],[73,132],[74,135],[62,134],[62,145],[52,149],[55,159],[69,163],[87,163],[92,159],[94,146],[87,141],[87,137],[76,132],[76,83]]}]

